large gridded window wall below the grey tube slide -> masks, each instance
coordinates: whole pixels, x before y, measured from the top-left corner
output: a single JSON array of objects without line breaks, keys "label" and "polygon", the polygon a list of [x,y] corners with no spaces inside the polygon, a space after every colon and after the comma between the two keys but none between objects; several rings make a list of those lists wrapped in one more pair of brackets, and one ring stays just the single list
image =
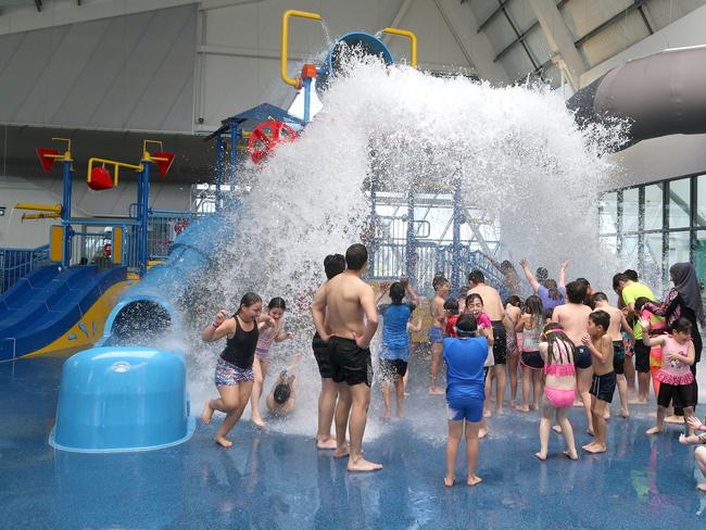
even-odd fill
[{"label": "large gridded window wall below the grey tube slide", "polygon": [[706,174],[607,191],[600,205],[603,244],[657,291],[675,263],[706,279]]}]

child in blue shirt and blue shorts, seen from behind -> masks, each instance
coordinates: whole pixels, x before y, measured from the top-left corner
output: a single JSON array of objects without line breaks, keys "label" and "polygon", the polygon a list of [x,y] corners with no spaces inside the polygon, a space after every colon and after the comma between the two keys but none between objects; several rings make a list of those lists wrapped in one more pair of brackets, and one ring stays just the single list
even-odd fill
[{"label": "child in blue shirt and blue shorts, seen from behind", "polygon": [[[467,485],[476,485],[481,478],[476,475],[478,463],[478,433],[483,416],[483,379],[486,358],[489,354],[488,339],[474,337],[476,318],[469,314],[458,317],[457,338],[443,341],[443,359],[446,363],[446,411],[449,441],[446,442],[446,476],[444,485],[451,488],[455,480],[456,456],[461,437],[466,438],[468,459]],[[492,353],[491,353],[492,355]]]}]

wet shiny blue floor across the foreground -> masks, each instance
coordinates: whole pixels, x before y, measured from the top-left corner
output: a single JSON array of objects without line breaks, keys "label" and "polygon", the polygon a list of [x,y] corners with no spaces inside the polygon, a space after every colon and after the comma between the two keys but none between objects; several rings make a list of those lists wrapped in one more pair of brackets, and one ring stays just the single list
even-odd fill
[{"label": "wet shiny blue floor across the foreground", "polygon": [[[703,528],[706,495],[695,491],[693,450],[678,432],[648,438],[652,407],[609,424],[609,451],[578,463],[539,463],[537,417],[493,418],[469,489],[441,485],[443,417],[398,420],[366,454],[384,464],[353,476],[303,437],[236,427],[236,446],[212,443],[199,426],[177,447],[121,455],[52,450],[62,359],[0,365],[0,528]],[[439,407],[413,389],[409,414]],[[431,403],[433,402],[433,403]],[[577,431],[584,420],[572,411]],[[429,422],[426,425],[425,421]],[[431,422],[434,424],[431,427]],[[429,433],[429,429],[432,430]],[[584,443],[585,436],[578,436]],[[553,434],[551,451],[562,449]],[[464,465],[457,470],[463,478]]]}]

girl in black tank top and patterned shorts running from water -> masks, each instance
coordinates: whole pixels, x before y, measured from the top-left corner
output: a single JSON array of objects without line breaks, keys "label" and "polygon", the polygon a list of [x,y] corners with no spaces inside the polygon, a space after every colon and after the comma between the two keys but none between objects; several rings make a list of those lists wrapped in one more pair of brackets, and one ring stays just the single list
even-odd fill
[{"label": "girl in black tank top and patterned shorts running from water", "polygon": [[201,331],[204,342],[214,342],[227,338],[226,348],[220,353],[216,365],[216,389],[220,394],[217,400],[209,400],[203,409],[203,422],[209,424],[214,411],[226,414],[223,425],[216,432],[216,442],[230,447],[232,442],[226,438],[230,429],[240,419],[252,390],[254,375],[252,371],[259,328],[273,324],[267,315],[262,315],[262,299],[254,292],[248,292],[240,300],[235,315],[228,318],[226,310],[220,310],[213,324]]}]

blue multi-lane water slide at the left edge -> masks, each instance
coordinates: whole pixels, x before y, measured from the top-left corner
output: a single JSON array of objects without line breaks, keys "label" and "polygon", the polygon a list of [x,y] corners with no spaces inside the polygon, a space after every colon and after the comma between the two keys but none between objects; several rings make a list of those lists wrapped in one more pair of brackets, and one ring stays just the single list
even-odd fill
[{"label": "blue multi-lane water slide at the left edge", "polygon": [[66,333],[126,268],[39,268],[0,296],[0,361],[33,353]]}]

